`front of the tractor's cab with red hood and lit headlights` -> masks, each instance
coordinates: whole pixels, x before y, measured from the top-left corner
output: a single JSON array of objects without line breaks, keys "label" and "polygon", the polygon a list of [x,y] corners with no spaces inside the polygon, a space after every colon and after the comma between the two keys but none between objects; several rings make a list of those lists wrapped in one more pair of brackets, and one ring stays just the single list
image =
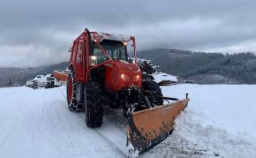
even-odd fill
[{"label": "front of the tractor's cab with red hood and lit headlights", "polygon": [[[134,38],[109,33],[92,33],[92,37],[90,66],[104,70],[105,80],[101,81],[104,81],[105,88],[120,91],[131,86],[141,87],[140,67],[137,66],[136,60],[130,60],[127,52],[135,46]],[[127,48],[128,46],[130,48]],[[137,59],[135,50],[134,59]],[[92,69],[92,73],[95,71],[99,70]]]}]

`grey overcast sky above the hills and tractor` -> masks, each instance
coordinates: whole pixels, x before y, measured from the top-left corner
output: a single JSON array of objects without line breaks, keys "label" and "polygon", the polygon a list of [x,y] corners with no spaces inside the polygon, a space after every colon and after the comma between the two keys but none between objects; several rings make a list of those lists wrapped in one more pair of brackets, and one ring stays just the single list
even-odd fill
[{"label": "grey overcast sky above the hills and tractor", "polygon": [[256,1],[0,0],[0,67],[69,59],[85,27],[136,36],[137,49],[256,51]]}]

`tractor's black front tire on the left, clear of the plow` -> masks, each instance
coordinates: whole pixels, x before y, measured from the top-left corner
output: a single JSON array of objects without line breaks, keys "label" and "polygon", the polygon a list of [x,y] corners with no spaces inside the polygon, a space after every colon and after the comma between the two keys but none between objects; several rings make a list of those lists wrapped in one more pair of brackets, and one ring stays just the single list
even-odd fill
[{"label": "tractor's black front tire on the left, clear of the plow", "polygon": [[88,127],[99,127],[103,119],[103,94],[100,84],[88,82],[84,91],[85,123]]}]

